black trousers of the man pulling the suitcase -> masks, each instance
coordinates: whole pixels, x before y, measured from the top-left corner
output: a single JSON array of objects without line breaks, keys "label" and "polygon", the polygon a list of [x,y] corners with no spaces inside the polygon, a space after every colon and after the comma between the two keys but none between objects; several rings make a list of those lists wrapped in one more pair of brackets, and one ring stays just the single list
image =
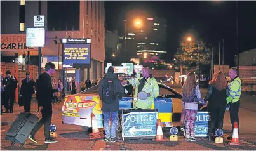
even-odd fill
[{"label": "black trousers of the man pulling the suitcase", "polygon": [[43,107],[41,110],[42,118],[37,122],[36,126],[30,133],[30,135],[34,136],[36,132],[43,126],[44,124],[44,137],[45,139],[50,139],[50,126],[51,126],[51,117],[53,114],[52,106],[49,104],[46,107]]}]

